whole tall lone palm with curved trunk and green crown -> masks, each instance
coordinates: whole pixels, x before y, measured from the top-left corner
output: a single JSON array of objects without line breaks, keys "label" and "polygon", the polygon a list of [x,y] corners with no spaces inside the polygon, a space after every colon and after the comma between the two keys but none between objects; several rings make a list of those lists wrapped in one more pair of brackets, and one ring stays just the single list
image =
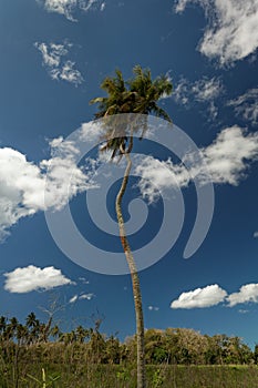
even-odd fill
[{"label": "whole tall lone palm with curved trunk and green crown", "polygon": [[[141,116],[141,127],[143,129],[141,137],[143,137],[147,129],[147,115],[153,113],[159,118],[171,121],[168,114],[157,105],[157,101],[172,93],[172,83],[168,76],[161,75],[152,80],[152,74],[148,69],[142,69],[136,65],[133,69],[134,76],[124,81],[122,72],[116,70],[115,76],[107,76],[102,82],[101,88],[107,92],[107,96],[96,98],[91,103],[99,104],[99,112],[95,114],[96,119],[113,116],[121,113],[138,113]],[[114,118],[114,116],[113,116]],[[111,120],[111,123],[113,121]],[[136,122],[131,122],[130,131],[126,131],[126,125],[114,125],[109,127],[104,135],[105,143],[101,151],[112,151],[111,159],[116,155],[126,157],[126,169],[122,181],[121,188],[115,201],[115,210],[120,228],[120,236],[122,246],[126,256],[132,277],[132,287],[134,295],[135,316],[136,316],[136,337],[137,337],[137,387],[146,387],[145,377],[145,354],[144,354],[144,319],[142,295],[140,287],[140,279],[134,257],[126,237],[124,218],[122,213],[122,200],[127,187],[128,176],[132,167],[130,153],[133,149],[133,134],[140,129]],[[106,122],[105,122],[106,124]],[[128,132],[128,133],[127,133]]]}]

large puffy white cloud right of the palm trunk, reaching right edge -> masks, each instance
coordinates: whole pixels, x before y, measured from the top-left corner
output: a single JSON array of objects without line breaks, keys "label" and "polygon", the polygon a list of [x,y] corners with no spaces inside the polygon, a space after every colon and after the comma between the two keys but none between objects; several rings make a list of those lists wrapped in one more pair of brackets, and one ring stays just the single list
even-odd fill
[{"label": "large puffy white cloud right of the palm trunk, reaching right edge", "polygon": [[143,157],[135,167],[135,174],[141,176],[138,188],[143,197],[155,202],[159,193],[164,194],[169,187],[186,187],[195,177],[203,183],[209,178],[216,184],[238,185],[246,177],[248,161],[258,160],[258,133],[248,134],[235,125],[223,130],[210,145],[200,151],[204,163],[190,163],[188,170],[184,162],[194,161],[192,154],[185,155],[180,164]]}]

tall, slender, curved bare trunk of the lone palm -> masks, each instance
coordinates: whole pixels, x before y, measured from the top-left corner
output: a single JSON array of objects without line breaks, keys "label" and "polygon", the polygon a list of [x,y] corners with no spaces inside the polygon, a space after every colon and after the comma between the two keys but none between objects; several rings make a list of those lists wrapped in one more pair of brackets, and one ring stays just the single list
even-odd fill
[{"label": "tall, slender, curved bare trunk of the lone palm", "polygon": [[132,166],[130,154],[125,152],[125,156],[127,159],[127,166],[124,173],[124,178],[123,178],[120,192],[116,196],[115,210],[116,210],[116,216],[117,216],[117,222],[120,227],[120,237],[121,237],[122,246],[125,253],[125,257],[126,257],[126,261],[130,267],[131,277],[132,277],[132,287],[133,287],[133,295],[134,295],[134,307],[135,307],[135,316],[136,316],[136,336],[137,336],[137,388],[145,388],[146,374],[145,374],[144,320],[143,320],[142,295],[141,295],[137,268],[136,268],[136,265],[128,245],[128,241],[125,234],[124,218],[123,218],[123,213],[121,208],[122,198],[127,186],[128,175]]}]

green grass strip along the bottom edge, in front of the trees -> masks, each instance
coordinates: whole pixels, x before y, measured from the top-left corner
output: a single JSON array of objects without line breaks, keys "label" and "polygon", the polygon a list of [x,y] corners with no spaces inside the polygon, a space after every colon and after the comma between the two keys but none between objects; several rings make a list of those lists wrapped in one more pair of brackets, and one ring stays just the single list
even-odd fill
[{"label": "green grass strip along the bottom edge, in front of the trees", "polygon": [[[43,368],[43,374],[42,374]],[[136,388],[133,367],[20,365],[1,368],[1,388]],[[257,366],[147,366],[149,388],[256,388]]]}]

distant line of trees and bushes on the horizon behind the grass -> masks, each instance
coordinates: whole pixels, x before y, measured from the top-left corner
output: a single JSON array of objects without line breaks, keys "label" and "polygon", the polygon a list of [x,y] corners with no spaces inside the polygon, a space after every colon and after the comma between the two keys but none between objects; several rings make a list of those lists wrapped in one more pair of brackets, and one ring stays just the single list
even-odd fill
[{"label": "distant line of trees and bushes on the horizon behind the grass", "polygon": [[[136,360],[136,335],[121,341],[94,327],[79,325],[62,331],[52,321],[40,321],[34,313],[24,324],[16,317],[0,317],[0,348],[6,363],[18,356],[30,361],[132,365]],[[147,329],[144,334],[145,359],[149,365],[249,365],[258,363],[258,345],[252,351],[241,338],[217,334],[202,335],[188,328]],[[25,357],[27,356],[27,357]]]}]

